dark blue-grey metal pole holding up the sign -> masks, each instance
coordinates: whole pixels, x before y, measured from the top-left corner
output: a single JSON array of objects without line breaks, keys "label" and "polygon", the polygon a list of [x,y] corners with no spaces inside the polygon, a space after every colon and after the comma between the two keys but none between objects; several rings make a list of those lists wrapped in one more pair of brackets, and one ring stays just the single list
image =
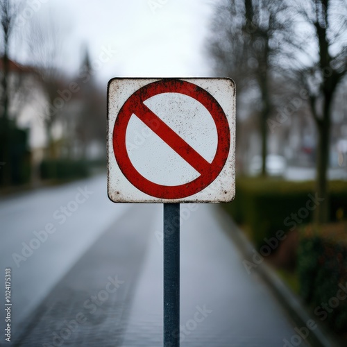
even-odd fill
[{"label": "dark blue-grey metal pole holding up the sign", "polygon": [[164,347],[180,346],[180,204],[164,203]]}]

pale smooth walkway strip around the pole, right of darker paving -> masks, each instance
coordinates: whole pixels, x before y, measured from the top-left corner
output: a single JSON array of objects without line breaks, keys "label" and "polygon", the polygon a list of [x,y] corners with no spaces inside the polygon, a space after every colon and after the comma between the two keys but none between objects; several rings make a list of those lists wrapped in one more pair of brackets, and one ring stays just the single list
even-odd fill
[{"label": "pale smooth walkway strip around the pole, right of darker paving", "polygon": [[[181,346],[285,345],[284,339],[296,335],[294,325],[269,287],[244,269],[242,255],[217,221],[218,207],[188,207],[180,205]],[[150,234],[122,346],[162,346],[161,230],[162,213]]]}]

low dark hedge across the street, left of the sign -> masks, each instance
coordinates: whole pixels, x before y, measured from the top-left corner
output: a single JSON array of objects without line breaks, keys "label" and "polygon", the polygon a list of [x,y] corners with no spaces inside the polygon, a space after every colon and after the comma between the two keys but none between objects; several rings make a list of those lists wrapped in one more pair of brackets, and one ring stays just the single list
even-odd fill
[{"label": "low dark hedge across the street, left of the sign", "polygon": [[85,160],[43,160],[40,165],[42,179],[70,180],[88,176],[88,164]]}]

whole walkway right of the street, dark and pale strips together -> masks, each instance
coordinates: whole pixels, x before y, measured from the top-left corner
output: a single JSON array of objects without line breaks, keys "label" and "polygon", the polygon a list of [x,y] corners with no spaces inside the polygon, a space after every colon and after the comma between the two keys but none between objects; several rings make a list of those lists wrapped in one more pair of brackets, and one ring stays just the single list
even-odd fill
[{"label": "whole walkway right of the street, dark and pale strips together", "polygon": [[[284,346],[294,325],[244,269],[218,207],[180,208],[181,346]],[[130,205],[42,301],[18,346],[162,346],[161,240],[162,205]]]}]

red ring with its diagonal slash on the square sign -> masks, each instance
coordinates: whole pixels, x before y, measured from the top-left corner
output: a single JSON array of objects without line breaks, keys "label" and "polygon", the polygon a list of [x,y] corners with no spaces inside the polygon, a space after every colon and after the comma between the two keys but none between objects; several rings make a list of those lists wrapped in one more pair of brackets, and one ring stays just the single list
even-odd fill
[{"label": "red ring with its diagonal slash on the square sign", "polygon": [[[162,93],[180,93],[191,96],[210,112],[217,128],[217,151],[211,163],[201,157],[184,139],[174,133],[159,117],[144,105],[144,101]],[[136,115],[159,137],[171,146],[194,169],[200,172],[198,178],[183,185],[159,185],[147,180],[133,166],[126,150],[126,129],[130,117]],[[221,105],[203,88],[177,79],[164,79],[149,83],[132,94],[119,110],[113,128],[113,150],[121,172],[140,191],[164,199],[178,199],[194,195],[208,187],[219,176],[226,163],[230,148],[230,128]]]}]

